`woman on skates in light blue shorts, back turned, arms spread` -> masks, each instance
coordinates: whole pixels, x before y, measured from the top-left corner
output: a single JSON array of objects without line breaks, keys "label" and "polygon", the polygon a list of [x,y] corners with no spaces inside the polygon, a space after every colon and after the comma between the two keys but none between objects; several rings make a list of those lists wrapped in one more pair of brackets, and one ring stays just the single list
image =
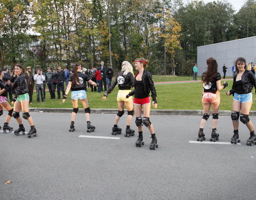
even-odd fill
[{"label": "woman on skates in light blue shorts, back turned, arms spread", "polygon": [[71,114],[71,125],[70,125],[69,132],[75,131],[74,123],[75,123],[76,114],[79,110],[78,100],[82,102],[82,105],[84,107],[85,118],[86,118],[87,129],[88,129],[87,132],[91,132],[95,130],[95,127],[92,126],[90,122],[91,109],[89,108],[89,103],[86,95],[86,88],[87,88],[86,81],[94,86],[97,86],[97,84],[94,83],[89,78],[88,75],[80,72],[82,69],[82,66],[80,63],[76,62],[73,68],[74,68],[74,73],[69,76],[66,93],[65,95],[63,95],[63,99],[62,99],[62,103],[64,103],[67,99],[69,90],[72,91],[71,99],[72,99],[72,105],[73,105],[73,112]]}]

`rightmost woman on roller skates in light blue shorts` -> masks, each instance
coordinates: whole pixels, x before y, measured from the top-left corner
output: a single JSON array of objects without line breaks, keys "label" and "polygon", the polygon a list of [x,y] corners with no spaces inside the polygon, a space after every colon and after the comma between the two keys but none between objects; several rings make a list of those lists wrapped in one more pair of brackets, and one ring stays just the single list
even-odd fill
[{"label": "rightmost woman on roller skates in light blue shorts", "polygon": [[256,79],[251,70],[247,70],[246,60],[237,58],[235,61],[237,74],[234,76],[232,89],[227,95],[233,95],[231,119],[234,127],[234,135],[231,138],[231,143],[240,142],[238,140],[239,120],[247,126],[250,131],[250,138],[246,144],[252,146],[255,143],[255,133],[253,122],[249,118],[252,107],[252,90],[256,89]]}]

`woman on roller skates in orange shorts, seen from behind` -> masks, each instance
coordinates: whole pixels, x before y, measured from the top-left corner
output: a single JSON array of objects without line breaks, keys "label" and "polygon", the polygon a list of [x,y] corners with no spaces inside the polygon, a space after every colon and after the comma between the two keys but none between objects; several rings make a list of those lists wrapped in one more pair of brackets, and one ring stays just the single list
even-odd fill
[{"label": "woman on roller skates in orange shorts, seen from behind", "polygon": [[228,86],[226,82],[221,85],[220,73],[218,73],[218,63],[214,58],[206,60],[207,70],[202,74],[203,94],[202,94],[202,106],[204,109],[204,115],[201,119],[197,141],[204,141],[205,135],[203,133],[204,126],[210,117],[210,109],[212,107],[212,133],[210,141],[219,140],[219,134],[216,133],[219,108],[220,108],[220,90],[225,89]]}]

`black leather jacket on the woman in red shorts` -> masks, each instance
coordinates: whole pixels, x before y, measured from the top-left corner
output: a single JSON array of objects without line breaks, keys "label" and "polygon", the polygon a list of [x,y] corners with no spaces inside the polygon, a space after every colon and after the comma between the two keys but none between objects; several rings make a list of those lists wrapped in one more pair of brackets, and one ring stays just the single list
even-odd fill
[{"label": "black leather jacket on the woman in red shorts", "polygon": [[[144,70],[141,79],[142,79],[142,82],[143,82],[143,85],[144,85],[145,93],[149,94],[150,91],[151,91],[152,100],[155,103],[157,103],[157,101],[156,101],[156,87],[154,85],[152,75],[149,73],[149,71]],[[135,90],[136,90],[136,87],[135,87]],[[130,96],[134,95],[135,90],[130,92],[129,95]]]}]

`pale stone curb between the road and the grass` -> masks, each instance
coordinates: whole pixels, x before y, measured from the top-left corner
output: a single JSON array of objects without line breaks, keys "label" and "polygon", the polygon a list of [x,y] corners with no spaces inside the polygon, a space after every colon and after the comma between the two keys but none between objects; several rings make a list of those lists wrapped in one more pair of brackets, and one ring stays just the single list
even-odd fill
[{"label": "pale stone curb between the road and the grass", "polygon": [[[72,113],[72,110],[73,108],[29,108],[31,112],[39,113]],[[79,108],[78,111],[84,113],[82,108]],[[118,109],[91,109],[92,114],[116,114],[117,111]],[[150,115],[203,115],[203,110],[151,110]],[[230,116],[231,111],[220,110],[219,115]],[[250,115],[256,116],[256,111],[251,111]]]}]

